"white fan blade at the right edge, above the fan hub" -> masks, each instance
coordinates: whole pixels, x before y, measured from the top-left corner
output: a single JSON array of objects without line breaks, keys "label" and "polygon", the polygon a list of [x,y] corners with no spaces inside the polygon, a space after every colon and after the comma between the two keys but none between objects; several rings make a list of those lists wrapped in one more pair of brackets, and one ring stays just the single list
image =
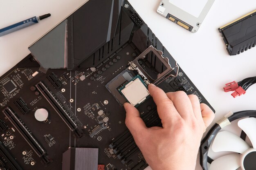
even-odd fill
[{"label": "white fan blade at the right edge, above the fan hub", "polygon": [[256,119],[249,117],[238,121],[238,126],[246,133],[252,142],[254,149],[256,148]]}]

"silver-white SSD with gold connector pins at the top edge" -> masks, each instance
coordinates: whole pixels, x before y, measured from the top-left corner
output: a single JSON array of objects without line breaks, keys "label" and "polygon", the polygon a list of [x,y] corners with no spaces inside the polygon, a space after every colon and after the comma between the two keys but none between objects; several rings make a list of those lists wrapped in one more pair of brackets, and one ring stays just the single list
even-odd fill
[{"label": "silver-white SSD with gold connector pins at the top edge", "polygon": [[201,26],[214,0],[162,0],[157,13],[195,33]]}]

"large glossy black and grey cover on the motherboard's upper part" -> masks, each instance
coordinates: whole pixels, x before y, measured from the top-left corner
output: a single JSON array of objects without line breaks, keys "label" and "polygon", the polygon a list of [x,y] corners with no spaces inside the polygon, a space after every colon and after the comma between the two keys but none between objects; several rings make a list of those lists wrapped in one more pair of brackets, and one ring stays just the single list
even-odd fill
[{"label": "large glossy black and grey cover on the motherboard's upper part", "polygon": [[90,0],[43,38],[29,46],[43,68],[72,70],[103,44],[117,29],[122,0]]}]

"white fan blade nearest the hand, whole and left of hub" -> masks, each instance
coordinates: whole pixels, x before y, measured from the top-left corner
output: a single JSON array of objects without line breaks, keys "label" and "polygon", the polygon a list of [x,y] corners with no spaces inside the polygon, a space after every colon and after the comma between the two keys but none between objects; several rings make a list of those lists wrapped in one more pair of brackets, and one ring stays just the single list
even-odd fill
[{"label": "white fan blade nearest the hand, whole and left of hub", "polygon": [[243,139],[228,131],[219,132],[212,144],[214,152],[231,151],[243,153],[249,148],[250,146]]}]

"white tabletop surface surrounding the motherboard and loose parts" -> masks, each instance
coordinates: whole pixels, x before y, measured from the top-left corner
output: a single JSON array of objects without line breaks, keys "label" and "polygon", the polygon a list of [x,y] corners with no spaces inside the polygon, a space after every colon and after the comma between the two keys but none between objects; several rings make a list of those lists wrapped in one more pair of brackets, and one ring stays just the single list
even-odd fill
[{"label": "white tabletop surface surrounding the motherboard and loose parts", "polygon": [[[0,0],[0,28],[34,15],[52,16],[26,29],[0,37],[0,75],[29,54],[27,47],[86,0]],[[177,60],[216,110],[215,121],[230,110],[256,110],[256,85],[234,99],[222,87],[256,76],[256,49],[230,57],[218,28],[256,8],[255,0],[216,0],[197,33],[156,13],[160,0],[129,0],[141,18]],[[196,170],[202,170],[199,163]]]}]

